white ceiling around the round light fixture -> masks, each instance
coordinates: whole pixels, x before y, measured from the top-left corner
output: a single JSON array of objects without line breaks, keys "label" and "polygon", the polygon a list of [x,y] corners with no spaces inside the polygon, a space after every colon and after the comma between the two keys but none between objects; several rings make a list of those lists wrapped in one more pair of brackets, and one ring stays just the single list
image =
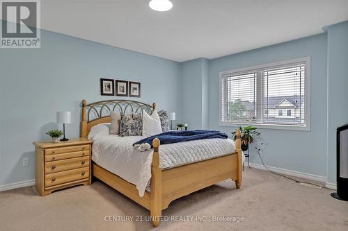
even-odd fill
[{"label": "white ceiling around the round light fixture", "polygon": [[216,58],[322,33],[348,20],[347,0],[41,0],[49,31],[175,61]]}]

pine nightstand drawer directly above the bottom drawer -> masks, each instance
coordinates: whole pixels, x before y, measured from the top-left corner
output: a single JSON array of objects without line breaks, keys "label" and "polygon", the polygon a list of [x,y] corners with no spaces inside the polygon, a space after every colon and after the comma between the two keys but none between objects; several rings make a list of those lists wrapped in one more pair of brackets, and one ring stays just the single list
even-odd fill
[{"label": "pine nightstand drawer directly above the bottom drawer", "polygon": [[89,166],[89,156],[72,158],[68,160],[57,160],[45,164],[45,174],[56,173],[58,171],[66,171],[70,169],[78,169]]}]

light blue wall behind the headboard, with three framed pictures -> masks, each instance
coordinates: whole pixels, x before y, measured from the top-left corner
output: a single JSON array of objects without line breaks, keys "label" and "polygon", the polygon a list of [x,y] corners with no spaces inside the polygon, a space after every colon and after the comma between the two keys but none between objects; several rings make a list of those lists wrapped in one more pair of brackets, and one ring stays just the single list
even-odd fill
[{"label": "light blue wall behind the headboard, with three framed pictures", "polygon": [[[68,137],[79,136],[80,102],[100,96],[100,78],[141,82],[141,99],[178,112],[180,63],[42,31],[41,49],[0,49],[0,185],[33,179],[33,141],[49,139],[56,111],[72,111]],[[117,97],[120,99],[120,97]],[[22,166],[22,158],[30,166]]]}]

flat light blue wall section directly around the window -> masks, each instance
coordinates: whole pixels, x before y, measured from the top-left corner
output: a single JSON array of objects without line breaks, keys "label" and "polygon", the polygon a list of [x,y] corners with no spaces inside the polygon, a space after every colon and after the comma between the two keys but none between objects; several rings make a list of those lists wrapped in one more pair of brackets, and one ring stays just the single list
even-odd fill
[{"label": "flat light blue wall section directly around the window", "polygon": [[[326,33],[209,61],[209,128],[230,133],[219,126],[219,71],[269,62],[311,57],[311,130],[261,129],[262,156],[269,166],[326,176]],[[251,148],[251,162],[260,164]]]}]

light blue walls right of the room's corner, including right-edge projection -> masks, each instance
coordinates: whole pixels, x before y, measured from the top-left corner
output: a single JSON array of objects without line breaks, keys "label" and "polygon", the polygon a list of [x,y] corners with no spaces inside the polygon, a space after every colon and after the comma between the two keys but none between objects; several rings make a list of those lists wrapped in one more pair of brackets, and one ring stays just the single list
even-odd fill
[{"label": "light blue walls right of the room's corner, including right-edge projection", "polygon": [[[310,56],[311,129],[260,129],[264,143],[262,156],[269,166],[322,176],[327,182],[335,183],[335,129],[348,123],[348,22],[328,26],[326,30],[327,33],[205,62],[197,59],[182,63],[182,85],[186,86],[182,88],[182,102],[187,100],[182,108],[183,118],[192,121],[194,128],[206,128],[204,124],[208,123],[209,129],[230,133],[235,128],[219,126],[219,71]],[[205,73],[209,74],[208,84],[204,83]],[[192,94],[192,89],[200,92],[196,87],[201,80],[202,97],[200,93]],[[203,108],[199,108],[200,103]],[[205,103],[208,103],[206,107]],[[201,118],[197,120],[196,112],[204,112],[206,108],[209,118],[203,119],[205,122],[199,126]],[[254,147],[251,147],[251,162],[260,164]]]}]

